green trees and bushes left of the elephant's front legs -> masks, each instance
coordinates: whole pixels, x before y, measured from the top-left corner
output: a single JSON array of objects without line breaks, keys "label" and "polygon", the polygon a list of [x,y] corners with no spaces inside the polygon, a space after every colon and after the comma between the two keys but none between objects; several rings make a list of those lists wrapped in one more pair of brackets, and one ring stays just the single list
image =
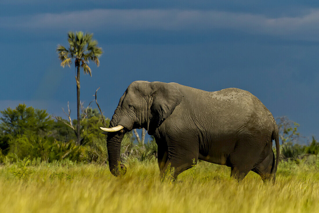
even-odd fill
[{"label": "green trees and bushes left of the elephant's front legs", "polygon": [[[80,143],[77,143],[77,120],[52,117],[46,110],[19,104],[0,111],[0,162],[30,160],[53,162],[69,159],[77,162],[108,161],[106,137],[99,127],[108,126],[109,119],[97,109],[82,109]],[[105,122],[103,124],[103,121]],[[132,132],[122,141],[122,160],[135,156],[143,161],[156,156],[157,145],[137,143]]]}]

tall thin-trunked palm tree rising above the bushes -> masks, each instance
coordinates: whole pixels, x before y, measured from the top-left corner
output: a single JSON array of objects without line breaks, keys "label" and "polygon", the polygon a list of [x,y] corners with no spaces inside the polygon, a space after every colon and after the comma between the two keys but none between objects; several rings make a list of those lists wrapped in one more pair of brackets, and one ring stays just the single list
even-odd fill
[{"label": "tall thin-trunked palm tree rising above the bushes", "polygon": [[62,61],[61,66],[69,66],[74,59],[75,68],[77,70],[77,75],[75,76],[77,83],[77,143],[80,143],[80,67],[83,68],[84,74],[90,74],[91,68],[88,66],[89,61],[94,61],[94,63],[99,67],[100,61],[99,57],[102,54],[102,48],[98,47],[98,42],[92,40],[93,34],[83,32],[69,32],[68,42],[70,44],[69,49],[66,49],[62,45],[58,45],[56,51],[58,53],[59,59]]}]

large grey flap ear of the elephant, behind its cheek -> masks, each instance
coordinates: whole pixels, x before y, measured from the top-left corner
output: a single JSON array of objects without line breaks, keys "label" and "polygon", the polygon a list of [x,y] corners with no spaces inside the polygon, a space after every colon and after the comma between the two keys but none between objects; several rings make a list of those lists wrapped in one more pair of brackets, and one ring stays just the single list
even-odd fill
[{"label": "large grey flap ear of the elephant, behind its cheek", "polygon": [[157,128],[170,116],[182,101],[183,95],[172,83],[151,82],[151,123],[148,129]]}]

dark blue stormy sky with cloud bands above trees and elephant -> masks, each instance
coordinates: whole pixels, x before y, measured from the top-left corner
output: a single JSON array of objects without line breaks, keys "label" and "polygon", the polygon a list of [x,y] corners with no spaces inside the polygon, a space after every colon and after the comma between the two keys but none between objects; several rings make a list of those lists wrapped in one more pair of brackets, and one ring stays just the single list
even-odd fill
[{"label": "dark blue stormy sky with cloud bands above trees and elephant", "polygon": [[75,69],[55,52],[70,30],[93,33],[103,48],[92,77],[81,73],[81,100],[87,106],[100,87],[108,117],[135,80],[237,87],[302,135],[319,135],[318,1],[2,0],[1,110],[25,102],[63,115],[70,101],[76,118]]}]

